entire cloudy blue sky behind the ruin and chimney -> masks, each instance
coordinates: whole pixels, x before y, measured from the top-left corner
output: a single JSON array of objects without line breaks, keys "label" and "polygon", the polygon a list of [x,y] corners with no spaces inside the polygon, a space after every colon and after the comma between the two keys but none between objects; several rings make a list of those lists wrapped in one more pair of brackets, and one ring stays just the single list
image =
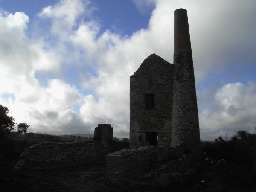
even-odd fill
[{"label": "entire cloudy blue sky behind the ruin and chimney", "polygon": [[28,132],[129,137],[129,76],[188,12],[201,140],[256,127],[255,0],[1,0],[0,104]]}]

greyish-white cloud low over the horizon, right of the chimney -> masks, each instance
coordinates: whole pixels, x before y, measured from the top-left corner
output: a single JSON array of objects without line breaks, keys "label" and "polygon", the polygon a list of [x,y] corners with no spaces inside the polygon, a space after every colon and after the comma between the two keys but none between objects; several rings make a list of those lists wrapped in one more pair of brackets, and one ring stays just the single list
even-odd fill
[{"label": "greyish-white cloud low over the horizon, right of the chimney", "polygon": [[236,131],[253,132],[256,124],[256,82],[228,83],[214,94],[215,101],[200,114],[204,138],[232,136]]}]

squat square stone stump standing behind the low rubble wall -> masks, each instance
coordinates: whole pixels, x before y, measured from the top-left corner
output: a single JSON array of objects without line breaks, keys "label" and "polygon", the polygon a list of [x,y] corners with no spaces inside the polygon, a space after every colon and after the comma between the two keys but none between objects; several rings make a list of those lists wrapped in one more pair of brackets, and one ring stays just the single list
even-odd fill
[{"label": "squat square stone stump standing behind the low rubble wall", "polygon": [[113,127],[110,124],[98,124],[94,129],[93,142],[111,145],[113,142]]}]

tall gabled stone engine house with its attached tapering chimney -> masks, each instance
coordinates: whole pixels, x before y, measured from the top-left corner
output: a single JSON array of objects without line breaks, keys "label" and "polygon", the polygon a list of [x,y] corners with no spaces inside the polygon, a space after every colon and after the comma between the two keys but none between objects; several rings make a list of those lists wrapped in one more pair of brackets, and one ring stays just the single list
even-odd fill
[{"label": "tall gabled stone engine house with its attached tapering chimney", "polygon": [[156,54],[130,76],[130,148],[182,145],[198,153],[200,133],[186,9],[175,10],[174,61]]}]

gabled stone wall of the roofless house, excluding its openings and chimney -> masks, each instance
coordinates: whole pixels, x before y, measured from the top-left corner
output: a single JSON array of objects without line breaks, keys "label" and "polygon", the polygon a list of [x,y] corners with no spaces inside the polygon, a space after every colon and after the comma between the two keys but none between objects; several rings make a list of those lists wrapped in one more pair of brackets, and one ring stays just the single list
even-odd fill
[{"label": "gabled stone wall of the roofless house, excluding its openings and chimney", "polygon": [[[151,54],[130,76],[130,148],[150,145],[146,132],[158,133],[158,145],[170,145],[172,72],[172,64]],[[146,94],[154,94],[154,109],[145,109]]]}]

